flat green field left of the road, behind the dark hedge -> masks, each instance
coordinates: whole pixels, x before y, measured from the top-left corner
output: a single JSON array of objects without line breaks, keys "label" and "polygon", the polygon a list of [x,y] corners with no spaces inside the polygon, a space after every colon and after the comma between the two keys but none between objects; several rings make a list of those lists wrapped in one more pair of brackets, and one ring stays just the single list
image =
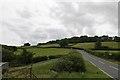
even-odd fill
[{"label": "flat green field left of the road, behind the dark hedge", "polygon": [[[50,55],[65,55],[68,54],[70,49],[62,48],[27,48],[27,51],[35,53],[33,57],[38,56],[50,56]],[[18,49],[14,54],[19,55],[22,52],[22,49]]]}]

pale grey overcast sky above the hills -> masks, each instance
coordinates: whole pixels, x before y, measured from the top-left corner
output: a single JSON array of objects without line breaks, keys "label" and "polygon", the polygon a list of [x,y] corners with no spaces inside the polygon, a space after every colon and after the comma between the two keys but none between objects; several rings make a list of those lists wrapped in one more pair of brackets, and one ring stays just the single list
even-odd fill
[{"label": "pale grey overcast sky above the hills", "polygon": [[0,43],[21,45],[81,35],[116,36],[118,2],[103,1],[0,0]]}]

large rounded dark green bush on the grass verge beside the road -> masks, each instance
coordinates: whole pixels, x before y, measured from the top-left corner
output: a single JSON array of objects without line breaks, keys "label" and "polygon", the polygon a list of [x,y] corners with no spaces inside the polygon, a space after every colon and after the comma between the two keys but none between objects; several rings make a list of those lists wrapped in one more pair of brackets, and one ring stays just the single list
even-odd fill
[{"label": "large rounded dark green bush on the grass verge beside the road", "polygon": [[82,58],[77,51],[72,51],[68,55],[60,58],[53,66],[52,70],[57,72],[85,72],[85,64]]}]

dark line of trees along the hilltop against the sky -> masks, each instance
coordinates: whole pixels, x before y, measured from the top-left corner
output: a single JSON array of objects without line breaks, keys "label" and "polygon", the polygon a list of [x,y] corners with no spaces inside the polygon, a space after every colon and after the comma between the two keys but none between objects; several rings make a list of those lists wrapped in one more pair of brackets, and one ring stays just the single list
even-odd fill
[{"label": "dark line of trees along the hilltop against the sky", "polygon": [[46,43],[38,43],[37,45],[44,45],[44,44],[59,44],[60,42],[65,41],[67,43],[83,43],[83,42],[105,42],[105,41],[115,41],[115,42],[120,42],[120,37],[114,36],[110,37],[108,35],[103,35],[103,36],[94,36],[94,37],[88,37],[87,35],[85,36],[74,36],[71,38],[64,38],[60,40],[53,40],[53,41],[48,41]]}]

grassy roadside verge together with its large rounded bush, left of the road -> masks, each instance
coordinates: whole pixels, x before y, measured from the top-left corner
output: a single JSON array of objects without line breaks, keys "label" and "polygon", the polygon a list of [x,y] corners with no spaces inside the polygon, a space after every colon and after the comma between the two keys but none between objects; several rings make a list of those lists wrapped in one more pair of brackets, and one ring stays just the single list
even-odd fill
[{"label": "grassy roadside verge together with its large rounded bush, left of the road", "polygon": [[[59,61],[62,63],[59,64]],[[62,68],[58,68],[58,65]],[[26,65],[25,67],[29,67],[29,65]],[[12,71],[20,68],[22,67],[14,67],[10,70]],[[76,51],[72,51],[61,58],[34,63],[32,72],[37,76],[37,78],[110,78],[88,61],[84,61],[82,55]],[[19,73],[20,71],[13,72],[7,77],[11,78]],[[26,75],[29,77],[29,71]],[[19,78],[24,77],[24,74],[19,76]]]}]

